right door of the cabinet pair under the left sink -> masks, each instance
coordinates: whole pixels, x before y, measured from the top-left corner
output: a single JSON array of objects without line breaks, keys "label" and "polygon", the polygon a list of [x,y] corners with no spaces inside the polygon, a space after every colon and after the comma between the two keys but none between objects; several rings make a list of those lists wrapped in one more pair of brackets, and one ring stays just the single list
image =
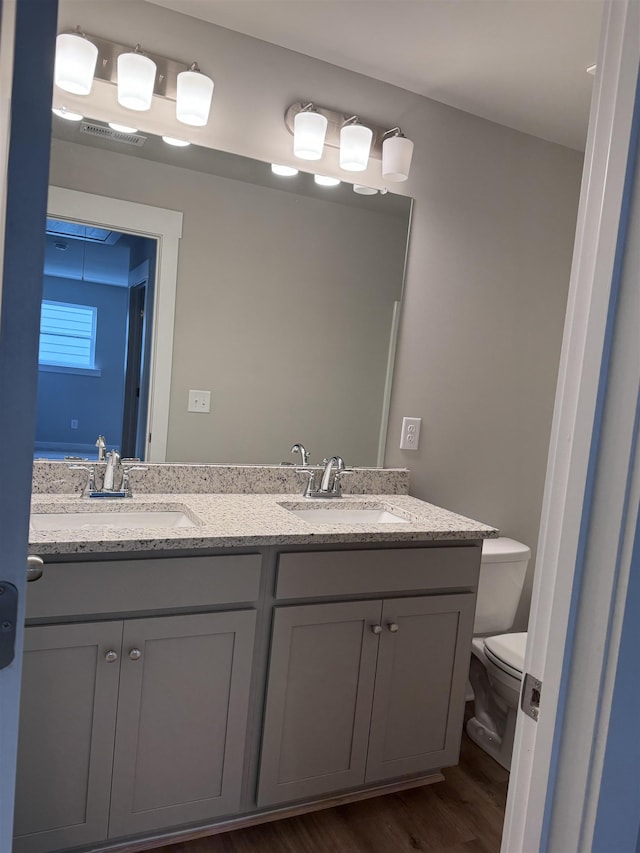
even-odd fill
[{"label": "right door of the cabinet pair under the left sink", "polygon": [[111,838],[240,807],[255,611],[125,623]]}]

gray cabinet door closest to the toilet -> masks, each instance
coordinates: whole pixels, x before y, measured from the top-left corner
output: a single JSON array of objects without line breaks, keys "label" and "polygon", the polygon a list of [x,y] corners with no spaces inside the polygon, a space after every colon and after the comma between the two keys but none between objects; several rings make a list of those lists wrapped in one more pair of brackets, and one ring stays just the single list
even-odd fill
[{"label": "gray cabinet door closest to the toilet", "polygon": [[367,782],[455,764],[475,597],[384,602]]}]

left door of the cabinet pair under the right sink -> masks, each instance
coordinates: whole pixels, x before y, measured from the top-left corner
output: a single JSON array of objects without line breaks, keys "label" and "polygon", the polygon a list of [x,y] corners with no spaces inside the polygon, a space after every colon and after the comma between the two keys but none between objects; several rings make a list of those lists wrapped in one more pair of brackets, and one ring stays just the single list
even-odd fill
[{"label": "left door of the cabinet pair under the right sink", "polygon": [[276,608],[258,806],[362,785],[380,601]]}]

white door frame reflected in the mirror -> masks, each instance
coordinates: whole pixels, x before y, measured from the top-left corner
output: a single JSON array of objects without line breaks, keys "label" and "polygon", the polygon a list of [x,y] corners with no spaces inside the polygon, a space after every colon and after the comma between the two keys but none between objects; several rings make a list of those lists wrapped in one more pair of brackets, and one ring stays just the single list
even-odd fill
[{"label": "white door frame reflected in the mirror", "polygon": [[144,458],[147,462],[164,462],[169,432],[178,250],[183,215],[177,210],[55,186],[49,187],[47,215],[158,241]]}]

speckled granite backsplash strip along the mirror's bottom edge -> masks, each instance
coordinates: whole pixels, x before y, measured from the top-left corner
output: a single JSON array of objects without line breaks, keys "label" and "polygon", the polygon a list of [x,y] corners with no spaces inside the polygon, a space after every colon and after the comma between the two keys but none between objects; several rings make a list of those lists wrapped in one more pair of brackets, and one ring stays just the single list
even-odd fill
[{"label": "speckled granite backsplash strip along the mirror's bottom edge", "polygon": [[[86,471],[70,466],[93,465],[98,483],[104,463],[44,462],[33,464],[33,494],[79,495],[87,482]],[[146,471],[132,471],[134,494],[302,494],[306,478],[289,465],[179,465],[140,463]],[[409,471],[406,468],[354,468],[342,481],[351,495],[406,495]]]}]

